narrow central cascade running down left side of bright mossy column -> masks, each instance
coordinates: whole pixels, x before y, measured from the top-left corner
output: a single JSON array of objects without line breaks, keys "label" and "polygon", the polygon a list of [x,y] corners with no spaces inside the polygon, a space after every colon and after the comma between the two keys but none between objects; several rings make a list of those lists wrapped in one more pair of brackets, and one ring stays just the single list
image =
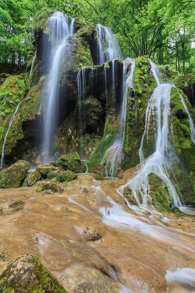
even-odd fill
[{"label": "narrow central cascade running down left side of bright mossy column", "polygon": [[126,114],[127,114],[127,96],[130,88],[133,88],[133,78],[134,78],[134,71],[135,71],[135,60],[130,60],[131,62],[131,71],[128,78],[125,80],[126,76],[126,66],[123,65],[123,100],[120,110],[120,130],[119,130],[119,138],[112,146],[110,146],[101,162],[101,165],[103,165],[105,162],[105,169],[106,169],[106,175],[108,176],[107,167],[110,163],[110,170],[109,170],[109,176],[113,177],[116,171],[117,167],[117,157],[121,155],[124,139],[125,139],[125,127],[126,127]]}]

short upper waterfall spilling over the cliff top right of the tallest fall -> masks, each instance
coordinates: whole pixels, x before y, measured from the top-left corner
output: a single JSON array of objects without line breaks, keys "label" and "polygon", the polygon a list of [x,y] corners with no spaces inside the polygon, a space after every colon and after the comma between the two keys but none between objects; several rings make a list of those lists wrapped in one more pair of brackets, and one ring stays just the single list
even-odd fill
[{"label": "short upper waterfall spilling over the cliff top right of the tallest fall", "polygon": [[111,29],[97,24],[96,31],[98,35],[98,65],[113,59],[123,59],[120,47]]}]

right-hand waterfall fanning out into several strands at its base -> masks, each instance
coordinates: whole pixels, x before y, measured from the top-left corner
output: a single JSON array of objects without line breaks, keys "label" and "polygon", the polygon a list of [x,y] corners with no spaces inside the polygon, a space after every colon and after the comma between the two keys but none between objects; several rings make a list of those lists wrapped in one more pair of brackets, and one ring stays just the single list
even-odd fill
[{"label": "right-hand waterfall fanning out into several strands at its base", "polygon": [[[122,195],[125,187],[131,188],[133,195],[140,205],[138,194],[142,197],[143,205],[152,204],[150,197],[150,187],[148,175],[156,174],[167,185],[172,206],[181,206],[180,199],[176,193],[176,189],[171,183],[168,171],[171,170],[172,163],[176,159],[174,147],[169,141],[169,133],[172,132],[172,127],[169,129],[169,119],[172,120],[170,98],[173,84],[161,84],[159,81],[159,72],[157,66],[151,62],[152,72],[158,86],[155,88],[146,108],[145,129],[141,139],[139,149],[140,162],[144,160],[142,147],[145,135],[148,136],[151,116],[153,116],[153,127],[156,127],[156,149],[155,152],[144,162],[141,168],[135,173],[135,176],[128,181],[124,186],[118,188],[118,192]],[[173,137],[173,133],[172,133]]]}]

